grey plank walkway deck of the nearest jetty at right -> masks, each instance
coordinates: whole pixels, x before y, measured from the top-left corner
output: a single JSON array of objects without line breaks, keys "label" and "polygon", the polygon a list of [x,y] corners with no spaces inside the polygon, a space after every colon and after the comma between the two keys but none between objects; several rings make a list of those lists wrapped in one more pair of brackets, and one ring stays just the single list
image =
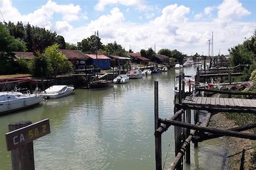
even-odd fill
[{"label": "grey plank walkway deck of the nearest jetty at right", "polygon": [[256,113],[256,99],[234,99],[217,97],[189,97],[187,96],[182,105],[196,110],[214,110],[228,112]]}]

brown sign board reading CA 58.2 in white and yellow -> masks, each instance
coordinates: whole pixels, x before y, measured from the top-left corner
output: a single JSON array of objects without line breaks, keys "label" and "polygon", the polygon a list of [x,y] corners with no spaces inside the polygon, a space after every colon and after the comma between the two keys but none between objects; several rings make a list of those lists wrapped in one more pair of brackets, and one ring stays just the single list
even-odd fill
[{"label": "brown sign board reading CA 58.2 in white and yellow", "polygon": [[13,150],[46,134],[49,134],[49,118],[5,134],[7,150]]}]

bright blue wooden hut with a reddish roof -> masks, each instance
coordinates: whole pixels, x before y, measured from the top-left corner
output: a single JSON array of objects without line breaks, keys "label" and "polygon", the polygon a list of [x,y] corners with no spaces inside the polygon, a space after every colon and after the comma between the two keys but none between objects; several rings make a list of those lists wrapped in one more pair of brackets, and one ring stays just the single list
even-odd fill
[{"label": "bright blue wooden hut with a reddish roof", "polygon": [[98,54],[85,54],[88,59],[88,64],[93,65],[93,67],[98,69],[110,69],[110,58],[106,55]]}]

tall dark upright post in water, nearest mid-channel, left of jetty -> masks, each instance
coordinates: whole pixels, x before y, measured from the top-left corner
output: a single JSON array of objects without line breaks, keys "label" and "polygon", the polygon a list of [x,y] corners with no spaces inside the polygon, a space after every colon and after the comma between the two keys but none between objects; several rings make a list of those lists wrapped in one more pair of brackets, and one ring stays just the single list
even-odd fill
[{"label": "tall dark upright post in water, nearest mid-channel, left of jetty", "polygon": [[[160,127],[159,113],[158,113],[158,81],[154,83],[154,99],[155,99],[155,131]],[[162,146],[161,135],[155,136],[155,149],[156,149],[156,170],[162,169]]]}]

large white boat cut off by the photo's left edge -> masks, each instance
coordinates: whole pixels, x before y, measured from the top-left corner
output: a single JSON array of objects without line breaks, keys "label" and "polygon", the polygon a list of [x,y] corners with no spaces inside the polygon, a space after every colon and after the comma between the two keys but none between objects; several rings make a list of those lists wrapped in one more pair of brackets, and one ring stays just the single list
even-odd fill
[{"label": "large white boat cut off by the photo's left edge", "polygon": [[39,94],[0,92],[0,114],[31,107],[42,100]]}]

